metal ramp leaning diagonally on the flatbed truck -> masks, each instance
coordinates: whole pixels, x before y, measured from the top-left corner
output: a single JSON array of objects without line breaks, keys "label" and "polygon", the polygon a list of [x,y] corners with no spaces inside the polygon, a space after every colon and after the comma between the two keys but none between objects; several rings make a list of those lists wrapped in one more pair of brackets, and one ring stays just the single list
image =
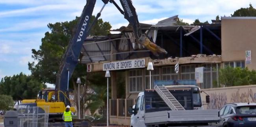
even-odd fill
[{"label": "metal ramp leaning diagonally on the flatbed truck", "polygon": [[154,89],[171,110],[185,110],[165,86],[158,87],[155,85]]}]

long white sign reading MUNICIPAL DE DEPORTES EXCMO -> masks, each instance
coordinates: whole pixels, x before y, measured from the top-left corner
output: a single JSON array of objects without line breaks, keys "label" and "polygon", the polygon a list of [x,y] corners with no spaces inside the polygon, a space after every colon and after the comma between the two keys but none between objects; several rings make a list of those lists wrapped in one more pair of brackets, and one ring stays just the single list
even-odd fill
[{"label": "long white sign reading MUNICIPAL DE DEPORTES EXCMO", "polygon": [[104,63],[103,71],[144,68],[144,67],[145,67],[145,59],[125,60],[125,61],[119,61],[119,62]]}]

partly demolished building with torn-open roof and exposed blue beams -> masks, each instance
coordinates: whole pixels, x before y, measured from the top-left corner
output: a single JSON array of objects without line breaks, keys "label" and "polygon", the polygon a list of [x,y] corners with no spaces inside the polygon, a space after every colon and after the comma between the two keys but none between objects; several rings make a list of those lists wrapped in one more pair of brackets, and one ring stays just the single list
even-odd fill
[{"label": "partly demolished building with torn-open roof and exposed blue beams", "polygon": [[[139,92],[150,88],[148,62],[154,65],[152,84],[154,80],[195,80],[195,68],[204,67],[203,82],[198,83],[202,89],[223,86],[218,82],[218,69],[225,65],[256,69],[256,58],[252,58],[256,57],[252,55],[255,17],[222,17],[221,23],[200,26],[175,25],[176,18],[141,24],[143,32],[167,54],[156,55],[135,43],[130,26],[113,30],[120,34],[85,40],[82,63],[87,64],[87,72],[111,72],[110,123],[130,125],[128,107],[134,105]],[[125,77],[125,98],[117,98],[117,74]]]}]

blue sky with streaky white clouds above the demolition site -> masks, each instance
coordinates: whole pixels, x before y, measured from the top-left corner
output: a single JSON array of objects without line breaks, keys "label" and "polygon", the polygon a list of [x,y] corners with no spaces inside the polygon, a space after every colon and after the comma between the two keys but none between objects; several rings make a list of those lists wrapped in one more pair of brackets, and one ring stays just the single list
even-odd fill
[{"label": "blue sky with streaky white clouds above the demolition site", "polygon": [[[119,0],[115,0],[119,6]],[[193,23],[230,16],[241,7],[256,7],[256,0],[132,0],[139,22],[156,24],[158,21],[179,15]],[[33,62],[31,49],[39,49],[48,23],[65,22],[80,16],[86,0],[0,0],[0,79],[14,74],[31,74],[28,62]],[[93,15],[103,2],[97,0]],[[112,29],[128,25],[128,21],[108,3],[100,16]]]}]

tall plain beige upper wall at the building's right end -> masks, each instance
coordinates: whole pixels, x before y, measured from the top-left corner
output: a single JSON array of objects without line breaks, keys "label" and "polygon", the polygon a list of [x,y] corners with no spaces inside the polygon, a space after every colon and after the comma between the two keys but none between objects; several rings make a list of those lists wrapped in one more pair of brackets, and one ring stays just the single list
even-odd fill
[{"label": "tall plain beige upper wall at the building's right end", "polygon": [[222,17],[221,55],[223,62],[245,60],[245,51],[252,51],[252,64],[256,70],[256,18]]}]

